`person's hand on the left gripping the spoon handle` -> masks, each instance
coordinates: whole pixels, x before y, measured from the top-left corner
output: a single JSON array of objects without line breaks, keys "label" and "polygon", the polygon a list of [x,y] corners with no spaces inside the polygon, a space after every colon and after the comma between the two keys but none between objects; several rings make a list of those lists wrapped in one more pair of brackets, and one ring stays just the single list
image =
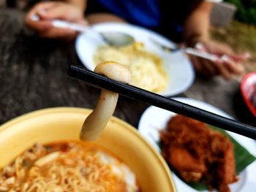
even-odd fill
[{"label": "person's hand on the left gripping the spoon handle", "polygon": [[[39,20],[32,20],[31,18],[34,15],[37,15]],[[75,39],[78,32],[70,28],[54,27],[51,24],[51,20],[54,19],[86,25],[86,20],[83,18],[83,9],[59,1],[41,2],[35,5],[26,15],[25,24],[29,28],[34,29],[40,37],[66,40]]]}]

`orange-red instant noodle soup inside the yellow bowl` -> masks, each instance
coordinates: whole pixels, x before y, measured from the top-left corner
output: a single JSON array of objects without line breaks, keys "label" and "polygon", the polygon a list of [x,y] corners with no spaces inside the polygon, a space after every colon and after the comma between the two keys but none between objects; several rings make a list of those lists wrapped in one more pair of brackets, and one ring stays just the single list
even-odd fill
[{"label": "orange-red instant noodle soup inside the yellow bowl", "polygon": [[139,191],[116,155],[90,142],[35,144],[0,171],[0,191]]}]

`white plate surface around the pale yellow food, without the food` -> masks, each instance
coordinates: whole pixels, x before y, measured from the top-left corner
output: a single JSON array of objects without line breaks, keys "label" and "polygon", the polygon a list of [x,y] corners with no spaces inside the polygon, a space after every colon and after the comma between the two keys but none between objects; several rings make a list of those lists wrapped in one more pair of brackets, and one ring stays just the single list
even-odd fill
[{"label": "white plate surface around the pale yellow food, without the food", "polygon": [[[154,38],[164,45],[172,47],[173,43],[165,37],[145,28],[125,23],[101,23],[92,26],[92,28],[96,31],[121,31],[130,34],[136,41],[143,42],[146,50],[162,58],[162,66],[168,74],[168,82],[167,88],[159,94],[174,96],[186,91],[192,85],[195,72],[187,56],[182,52],[165,53],[150,40],[150,38]],[[105,45],[105,42],[97,34],[83,33],[78,36],[75,43],[75,50],[78,58],[80,58],[80,61],[87,69],[94,70],[94,53],[97,47],[102,45]]]}]

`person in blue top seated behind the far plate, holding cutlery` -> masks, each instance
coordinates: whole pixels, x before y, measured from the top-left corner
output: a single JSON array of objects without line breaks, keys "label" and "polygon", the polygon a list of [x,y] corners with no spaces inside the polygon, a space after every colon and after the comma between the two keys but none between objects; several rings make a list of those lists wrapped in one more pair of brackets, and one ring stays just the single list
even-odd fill
[{"label": "person in blue top seated behind the far plate, holding cutlery", "polygon": [[[76,31],[56,28],[50,20],[61,19],[84,25],[103,22],[132,23],[162,34],[173,42],[184,42],[208,53],[219,55],[216,61],[189,55],[198,74],[221,75],[230,80],[244,71],[247,54],[235,54],[225,45],[209,38],[210,13],[218,0],[65,0],[39,2],[27,13],[25,23],[40,37],[75,39]],[[40,20],[31,20],[32,15]],[[222,55],[227,55],[225,59]]]}]

